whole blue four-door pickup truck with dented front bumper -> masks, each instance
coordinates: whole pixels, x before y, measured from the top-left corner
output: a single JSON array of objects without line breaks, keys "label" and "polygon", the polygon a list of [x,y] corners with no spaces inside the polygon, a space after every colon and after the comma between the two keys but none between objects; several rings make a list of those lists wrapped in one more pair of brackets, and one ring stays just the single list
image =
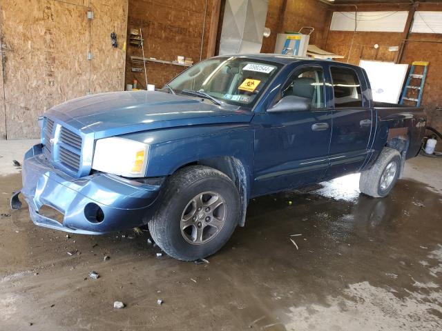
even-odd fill
[{"label": "whole blue four-door pickup truck with dented front bumper", "polygon": [[79,234],[148,225],[184,261],[217,252],[253,197],[352,172],[385,197],[425,130],[421,108],[375,103],[362,68],[277,54],[213,57],[161,90],[81,97],[41,121],[12,208],[21,193],[36,225]]}]

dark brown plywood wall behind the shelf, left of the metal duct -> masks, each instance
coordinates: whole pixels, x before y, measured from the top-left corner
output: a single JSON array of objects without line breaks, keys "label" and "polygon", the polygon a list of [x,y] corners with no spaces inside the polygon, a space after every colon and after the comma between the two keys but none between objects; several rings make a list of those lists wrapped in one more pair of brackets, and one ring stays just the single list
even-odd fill
[{"label": "dark brown plywood wall behind the shelf, left of the metal duct", "polygon": [[[128,34],[131,28],[142,29],[145,57],[173,61],[180,55],[191,57],[196,63],[200,61],[201,51],[202,59],[207,56],[209,29],[212,21],[217,19],[213,15],[216,3],[218,1],[215,0],[129,0]],[[142,57],[142,48],[127,46],[126,83],[136,79],[137,87],[145,88],[144,72],[131,70],[132,67],[142,66],[133,65],[131,56]],[[151,62],[146,66],[148,83],[156,87],[163,86],[185,69],[182,66]]]}]

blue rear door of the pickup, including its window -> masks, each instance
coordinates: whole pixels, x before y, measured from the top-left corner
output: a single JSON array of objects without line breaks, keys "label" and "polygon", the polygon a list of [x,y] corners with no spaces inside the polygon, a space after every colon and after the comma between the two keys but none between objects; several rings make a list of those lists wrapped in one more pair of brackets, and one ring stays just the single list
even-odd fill
[{"label": "blue rear door of the pickup, including its window", "polygon": [[325,179],[357,172],[367,157],[374,122],[368,85],[361,70],[330,66],[334,96],[330,166]]}]

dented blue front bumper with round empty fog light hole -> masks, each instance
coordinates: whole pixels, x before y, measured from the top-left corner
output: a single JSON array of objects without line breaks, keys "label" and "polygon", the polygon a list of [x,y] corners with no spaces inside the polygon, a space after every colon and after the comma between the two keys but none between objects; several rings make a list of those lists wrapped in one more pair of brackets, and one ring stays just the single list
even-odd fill
[{"label": "dented blue front bumper with round empty fog light hole", "polygon": [[[26,152],[21,194],[36,225],[81,234],[102,234],[146,224],[155,214],[160,185],[147,185],[111,174],[73,178],[52,166],[41,145]],[[11,206],[19,207],[18,194]],[[63,221],[40,213],[44,205]]]}]

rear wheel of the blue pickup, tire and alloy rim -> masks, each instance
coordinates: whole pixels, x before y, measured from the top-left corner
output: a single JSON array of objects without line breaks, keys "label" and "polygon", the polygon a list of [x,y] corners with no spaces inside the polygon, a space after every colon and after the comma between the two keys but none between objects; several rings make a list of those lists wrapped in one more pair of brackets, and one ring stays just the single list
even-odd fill
[{"label": "rear wheel of the blue pickup, tire and alloy rim", "polygon": [[401,154],[393,148],[383,148],[372,168],[361,172],[359,190],[370,197],[386,197],[398,181],[401,166]]}]

